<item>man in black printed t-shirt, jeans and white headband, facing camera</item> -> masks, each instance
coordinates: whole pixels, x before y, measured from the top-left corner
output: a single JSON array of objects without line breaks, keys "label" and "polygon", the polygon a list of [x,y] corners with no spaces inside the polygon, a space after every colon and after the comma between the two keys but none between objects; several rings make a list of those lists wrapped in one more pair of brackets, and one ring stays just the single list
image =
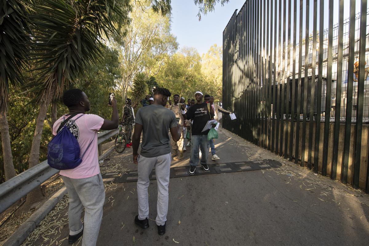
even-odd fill
[{"label": "man in black printed t-shirt, jeans and white headband, facing camera", "polygon": [[[199,162],[199,148],[201,150],[201,167],[204,171],[209,171],[209,167],[207,165],[207,157],[208,157],[208,143],[207,134],[209,130],[202,131],[206,125],[206,123],[210,119],[214,119],[214,111],[211,109],[210,104],[203,102],[203,93],[201,91],[196,91],[195,98],[197,103],[187,109],[187,112],[184,112],[185,105],[182,105],[182,114],[184,119],[192,119],[192,148],[191,148],[191,157],[190,157],[190,175],[193,175],[196,171],[196,165]],[[213,124],[215,127],[215,124]]]}]

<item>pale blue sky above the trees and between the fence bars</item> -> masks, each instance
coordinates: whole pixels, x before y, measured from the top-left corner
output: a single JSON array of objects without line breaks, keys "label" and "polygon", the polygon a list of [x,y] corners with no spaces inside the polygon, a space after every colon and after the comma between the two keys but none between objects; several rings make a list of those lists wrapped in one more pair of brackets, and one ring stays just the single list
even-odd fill
[{"label": "pale blue sky above the trees and between the fence bars", "polygon": [[[283,2],[283,1],[282,1]],[[344,19],[349,17],[349,0],[344,2]],[[245,0],[230,0],[223,7],[221,4],[215,5],[215,11],[202,15],[201,21],[196,16],[199,8],[193,3],[193,0],[172,0],[172,33],[177,37],[179,48],[184,46],[194,47],[200,54],[206,53],[211,45],[222,46],[223,30],[236,9],[241,9]],[[287,0],[288,3],[288,0]],[[292,1],[293,3],[293,1]],[[299,0],[297,0],[299,3]],[[338,22],[338,0],[334,0],[334,24]],[[305,22],[306,0],[303,0],[303,20]],[[328,6],[328,0],[324,0],[324,6]],[[292,6],[293,8],[293,6]],[[297,7],[297,22],[299,22],[299,7]],[[328,27],[328,8],[324,15],[324,27]],[[282,7],[283,10],[283,7]],[[287,7],[288,10],[288,7]],[[360,1],[356,0],[355,13],[360,11]],[[318,0],[319,12],[319,0]],[[313,32],[313,0],[310,0],[310,27],[309,32]],[[317,16],[317,18],[319,18]],[[293,21],[293,18],[292,18]],[[297,29],[299,25],[297,24]],[[305,23],[303,24],[303,30]],[[299,31],[297,30],[297,34]],[[298,35],[297,35],[298,37]]]}]

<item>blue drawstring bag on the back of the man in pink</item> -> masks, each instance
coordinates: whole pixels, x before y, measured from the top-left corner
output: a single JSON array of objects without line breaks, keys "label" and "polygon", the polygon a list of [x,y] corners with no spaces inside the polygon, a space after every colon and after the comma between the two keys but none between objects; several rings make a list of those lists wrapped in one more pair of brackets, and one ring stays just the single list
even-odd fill
[{"label": "blue drawstring bag on the back of the man in pink", "polygon": [[[85,151],[85,153],[79,157],[79,144],[75,136],[73,136],[72,132],[69,130],[70,126],[75,124],[75,121],[84,114],[77,117],[70,124],[65,125],[65,123],[75,115],[76,114],[70,115],[68,119],[62,122],[61,126],[59,127],[59,129],[62,128],[61,131],[58,129],[59,132],[48,144],[47,163],[49,166],[57,170],[73,169],[77,167],[79,164],[81,164],[82,158],[86,153]],[[90,147],[91,143],[92,141],[90,142],[89,146],[87,146],[87,149]]]}]

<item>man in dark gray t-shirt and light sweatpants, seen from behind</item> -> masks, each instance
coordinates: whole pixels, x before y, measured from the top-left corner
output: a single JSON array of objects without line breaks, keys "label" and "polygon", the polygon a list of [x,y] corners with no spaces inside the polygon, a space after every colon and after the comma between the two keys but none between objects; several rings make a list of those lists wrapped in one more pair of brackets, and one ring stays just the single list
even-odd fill
[{"label": "man in dark gray t-shirt and light sweatpants, seen from behind", "polygon": [[[138,164],[138,215],[135,217],[135,224],[141,226],[142,229],[149,227],[149,175],[155,167],[158,184],[156,225],[159,235],[165,233],[166,215],[168,214],[169,173],[172,160],[168,129],[170,129],[173,141],[177,142],[180,138],[180,125],[177,123],[176,116],[165,108],[170,96],[170,91],[165,88],[154,90],[154,103],[137,111],[132,138],[133,162]],[[141,153],[138,155],[141,132]]]}]

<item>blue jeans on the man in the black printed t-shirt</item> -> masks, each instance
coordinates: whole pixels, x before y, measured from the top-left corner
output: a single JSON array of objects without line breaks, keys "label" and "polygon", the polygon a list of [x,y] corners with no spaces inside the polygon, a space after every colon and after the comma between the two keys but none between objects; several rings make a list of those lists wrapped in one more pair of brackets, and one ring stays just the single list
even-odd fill
[{"label": "blue jeans on the man in the black printed t-shirt", "polygon": [[191,157],[190,166],[196,166],[199,162],[199,148],[201,150],[201,164],[207,164],[207,155],[209,151],[209,141],[207,140],[207,135],[192,135],[191,136]]}]

